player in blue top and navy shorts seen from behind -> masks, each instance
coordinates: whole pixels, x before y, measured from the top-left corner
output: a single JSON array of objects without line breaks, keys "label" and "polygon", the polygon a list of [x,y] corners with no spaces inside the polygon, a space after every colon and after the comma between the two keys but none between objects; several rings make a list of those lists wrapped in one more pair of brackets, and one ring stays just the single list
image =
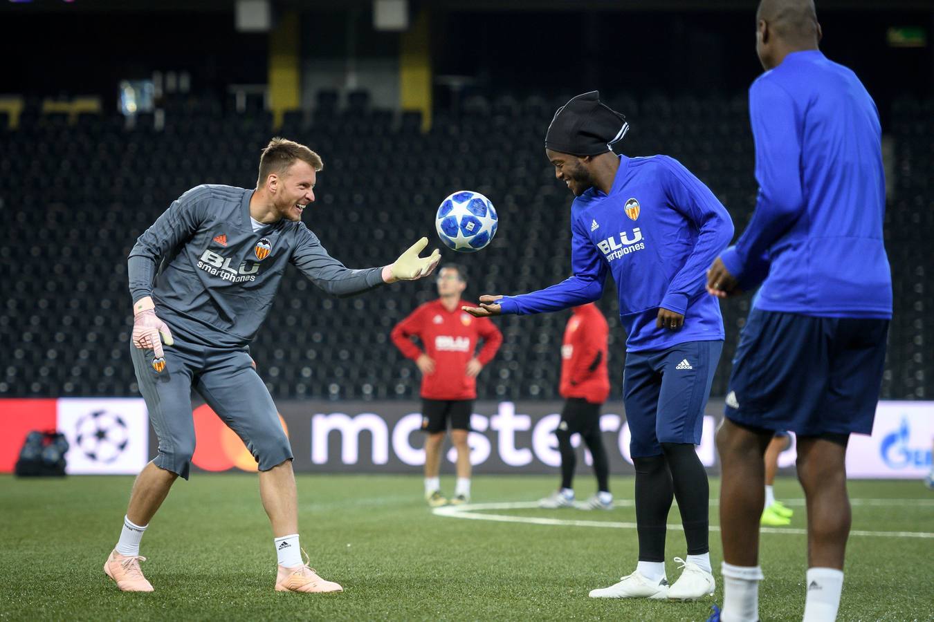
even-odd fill
[{"label": "player in blue top and navy shorts seen from behind", "polygon": [[798,436],[807,499],[804,620],[833,620],[850,529],[844,459],[870,434],[882,384],[892,283],[883,243],[879,115],[856,75],[817,48],[812,0],[764,0],[749,89],[756,212],[708,276],[715,296],[762,283],[733,359],[723,466],[722,620],[758,619],[762,454]]}]

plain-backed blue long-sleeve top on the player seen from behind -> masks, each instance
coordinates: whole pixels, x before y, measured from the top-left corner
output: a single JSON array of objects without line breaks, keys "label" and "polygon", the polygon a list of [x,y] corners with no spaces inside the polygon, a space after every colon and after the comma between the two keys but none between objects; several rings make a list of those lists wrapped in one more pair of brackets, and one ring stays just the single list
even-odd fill
[{"label": "plain-backed blue long-sleeve top on the player seen from behind", "polygon": [[744,289],[762,283],[758,309],[890,318],[882,134],[859,78],[791,53],[750,87],[749,116],[758,201],[727,270]]}]

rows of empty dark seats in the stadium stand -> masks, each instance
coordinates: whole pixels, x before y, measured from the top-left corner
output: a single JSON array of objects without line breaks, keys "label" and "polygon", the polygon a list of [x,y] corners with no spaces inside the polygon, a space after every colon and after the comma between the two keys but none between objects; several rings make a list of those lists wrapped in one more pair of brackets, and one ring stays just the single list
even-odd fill
[{"label": "rows of empty dark seats in the stadium stand", "polygon": [[[323,91],[314,111],[285,116],[279,131],[262,111],[235,114],[210,98],[165,106],[162,130],[141,115],[0,117],[0,237],[4,273],[0,394],[135,395],[128,354],[132,327],[126,256],[136,237],[186,189],[203,183],[252,187],[260,149],[274,134],[303,142],[325,161],[318,200],[304,220],[349,267],[389,263],[411,242],[434,235],[433,216],[450,192],[486,194],[501,219],[481,253],[457,256],[470,272],[468,297],[520,293],[570,270],[571,196],[544,157],[554,100],[534,95],[474,96],[455,118],[443,113],[421,133],[417,113],[372,109],[365,91],[341,102]],[[628,155],[665,153],[711,187],[737,231],[755,201],[753,145],[745,97],[634,101],[604,94],[632,130]],[[893,106],[894,179],[885,236],[895,282],[896,321],[889,339],[883,397],[930,397],[929,313],[934,310],[934,102]],[[48,249],[54,249],[50,251]],[[417,396],[417,369],[389,341],[389,330],[434,296],[433,283],[403,283],[361,297],[326,297],[297,272],[283,281],[251,352],[276,397],[382,399]],[[608,282],[608,289],[614,287]],[[616,297],[601,307],[616,314]],[[749,298],[723,305],[727,357],[735,350]],[[559,346],[568,313],[499,320],[505,336],[481,374],[481,398],[554,398]],[[619,398],[625,336],[611,325],[611,379]],[[713,394],[725,393],[729,360]]]}]

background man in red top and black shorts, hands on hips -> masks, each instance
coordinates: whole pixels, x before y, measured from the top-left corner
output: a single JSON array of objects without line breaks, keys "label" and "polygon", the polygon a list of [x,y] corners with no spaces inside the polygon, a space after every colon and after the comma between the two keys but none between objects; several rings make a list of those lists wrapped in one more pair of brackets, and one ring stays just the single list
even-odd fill
[{"label": "background man in red top and black shorts, hands on hips", "polygon": [[[458,450],[458,483],[452,504],[470,500],[470,416],[476,398],[476,376],[502,343],[499,329],[486,318],[460,311],[469,305],[460,299],[467,277],[460,266],[449,264],[438,272],[437,300],[426,302],[392,329],[391,338],[406,358],[421,371],[421,429],[425,440],[425,498],[429,505],[445,505],[438,472],[448,420],[451,442]],[[424,352],[413,343],[417,337]],[[477,341],[483,348],[474,355]]]}]

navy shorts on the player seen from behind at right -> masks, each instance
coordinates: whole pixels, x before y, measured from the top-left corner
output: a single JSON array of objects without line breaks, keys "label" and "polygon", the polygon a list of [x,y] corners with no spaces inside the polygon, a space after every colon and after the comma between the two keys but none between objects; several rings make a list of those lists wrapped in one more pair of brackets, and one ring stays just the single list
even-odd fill
[{"label": "navy shorts on the player seen from behind at right", "polygon": [[753,309],[733,359],[727,418],[802,436],[871,434],[888,324]]}]

